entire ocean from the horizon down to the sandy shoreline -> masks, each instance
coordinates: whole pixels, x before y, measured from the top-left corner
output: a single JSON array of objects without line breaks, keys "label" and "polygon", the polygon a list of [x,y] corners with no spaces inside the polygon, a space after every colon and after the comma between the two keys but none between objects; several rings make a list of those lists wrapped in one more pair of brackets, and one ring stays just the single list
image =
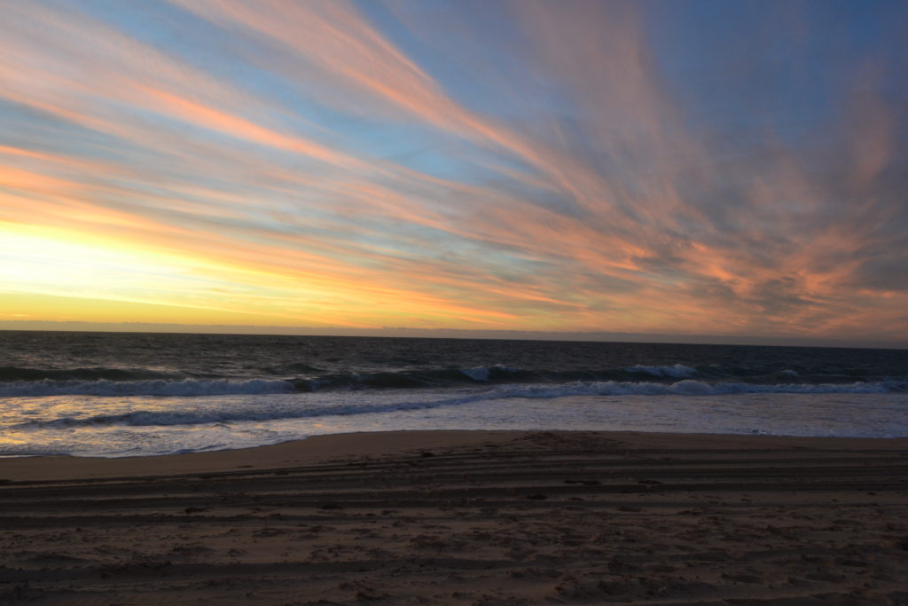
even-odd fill
[{"label": "entire ocean from the horizon down to the sandy shoreline", "polygon": [[908,436],[908,351],[0,332],[0,456],[390,430]]}]

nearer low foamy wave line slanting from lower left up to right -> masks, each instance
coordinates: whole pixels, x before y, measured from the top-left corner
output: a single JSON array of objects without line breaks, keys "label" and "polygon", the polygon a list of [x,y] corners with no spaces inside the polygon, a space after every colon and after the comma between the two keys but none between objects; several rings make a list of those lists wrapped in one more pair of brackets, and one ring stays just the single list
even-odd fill
[{"label": "nearer low foamy wave line slanting from lower left up to right", "polygon": [[281,419],[302,419],[325,416],[347,416],[453,406],[470,402],[492,402],[513,398],[551,399],[570,396],[617,395],[681,395],[715,396],[735,393],[889,393],[908,391],[908,382],[855,382],[843,384],[776,384],[725,382],[709,384],[686,379],[674,383],[656,382],[577,382],[558,386],[501,385],[498,387],[461,392],[457,397],[433,399],[406,399],[397,397],[361,398],[353,402],[331,404],[326,402],[259,401],[242,403],[231,408],[189,408],[178,411],[139,410],[118,414],[99,414],[91,417],[61,417],[44,421],[18,423],[15,429],[45,427],[74,427],[96,425],[168,426],[199,425],[231,422],[262,422]]}]

